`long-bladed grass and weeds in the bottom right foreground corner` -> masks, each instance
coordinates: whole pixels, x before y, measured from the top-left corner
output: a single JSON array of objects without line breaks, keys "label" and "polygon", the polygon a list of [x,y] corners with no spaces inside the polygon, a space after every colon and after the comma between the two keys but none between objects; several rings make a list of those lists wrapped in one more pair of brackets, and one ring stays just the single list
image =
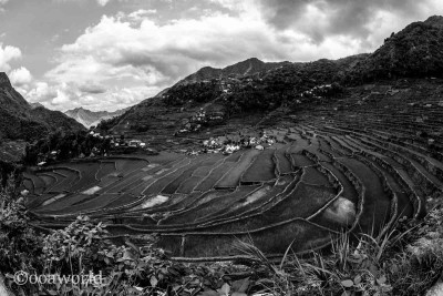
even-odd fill
[{"label": "long-bladed grass and weeds in the bottom right foreground corner", "polygon": [[342,234],[326,252],[301,258],[287,248],[281,261],[271,261],[253,241],[236,248],[265,268],[267,280],[257,280],[268,295],[422,295],[443,273],[443,208],[421,222],[396,221],[383,236]]}]

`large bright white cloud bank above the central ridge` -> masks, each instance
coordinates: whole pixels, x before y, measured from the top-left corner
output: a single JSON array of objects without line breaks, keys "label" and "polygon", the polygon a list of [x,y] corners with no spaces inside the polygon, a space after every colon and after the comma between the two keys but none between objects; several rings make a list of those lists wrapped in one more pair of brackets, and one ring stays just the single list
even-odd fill
[{"label": "large bright white cloud bank above the central ridge", "polygon": [[[258,9],[229,1],[224,4],[238,13],[212,12],[199,19],[162,23],[152,19],[155,11],[150,10],[104,16],[74,43],[60,48],[56,65],[45,74],[51,95],[39,94],[38,90],[29,95],[58,110],[80,104],[91,109],[125,108],[205,65],[226,67],[251,57],[267,61],[341,58],[360,45],[340,37],[315,44],[295,30],[276,31],[261,19]],[[75,91],[66,93],[63,83]],[[80,91],[87,84],[102,85],[103,91]]]}]

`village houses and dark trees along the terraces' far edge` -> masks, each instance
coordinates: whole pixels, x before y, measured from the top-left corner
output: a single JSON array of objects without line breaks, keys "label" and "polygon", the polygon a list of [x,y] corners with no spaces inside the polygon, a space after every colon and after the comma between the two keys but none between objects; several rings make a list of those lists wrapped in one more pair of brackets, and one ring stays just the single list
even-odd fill
[{"label": "village houses and dark trees along the terraces' far edge", "polygon": [[[202,132],[208,126],[223,124],[226,120],[220,110],[206,111],[200,108],[194,115],[183,121],[182,126],[171,136],[186,141],[193,139],[190,134]],[[189,137],[190,136],[190,137]],[[82,140],[80,140],[81,137]],[[151,141],[153,140],[153,142]],[[154,139],[146,139],[137,134],[114,133],[110,134],[92,126],[87,133],[75,135],[75,139],[63,139],[64,144],[55,145],[52,150],[41,150],[37,155],[38,166],[47,166],[54,162],[72,160],[90,160],[96,157],[109,157],[121,154],[146,154],[156,155],[163,150],[173,150],[186,155],[199,155],[204,153],[231,154],[243,149],[265,150],[276,143],[276,137],[266,131],[250,133],[237,131],[224,135],[210,136],[207,140],[197,140],[196,146],[176,149],[156,145]],[[195,140],[195,139],[194,139]],[[166,143],[176,143],[168,139]]]}]

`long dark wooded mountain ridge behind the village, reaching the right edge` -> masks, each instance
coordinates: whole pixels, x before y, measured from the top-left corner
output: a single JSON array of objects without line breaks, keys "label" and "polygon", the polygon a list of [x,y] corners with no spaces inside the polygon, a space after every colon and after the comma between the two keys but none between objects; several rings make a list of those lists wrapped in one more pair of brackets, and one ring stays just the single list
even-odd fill
[{"label": "long dark wooded mountain ridge behind the village, reaching the right edge", "polygon": [[115,118],[109,126],[115,132],[150,130],[161,135],[181,129],[202,108],[235,122],[245,114],[262,118],[280,106],[324,98],[312,93],[316,88],[330,88],[328,95],[337,95],[343,88],[378,80],[442,75],[443,17],[431,17],[392,33],[373,53],[293,63],[253,58],[224,69],[205,67]]}]

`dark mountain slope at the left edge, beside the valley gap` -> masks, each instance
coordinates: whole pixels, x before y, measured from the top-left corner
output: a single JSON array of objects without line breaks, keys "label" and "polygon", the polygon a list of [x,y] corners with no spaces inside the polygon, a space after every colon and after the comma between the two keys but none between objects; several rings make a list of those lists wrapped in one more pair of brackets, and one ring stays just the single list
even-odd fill
[{"label": "dark mountain slope at the left edge, beside the valley gap", "polygon": [[0,139],[32,141],[52,131],[84,129],[62,112],[32,108],[0,72]]}]

